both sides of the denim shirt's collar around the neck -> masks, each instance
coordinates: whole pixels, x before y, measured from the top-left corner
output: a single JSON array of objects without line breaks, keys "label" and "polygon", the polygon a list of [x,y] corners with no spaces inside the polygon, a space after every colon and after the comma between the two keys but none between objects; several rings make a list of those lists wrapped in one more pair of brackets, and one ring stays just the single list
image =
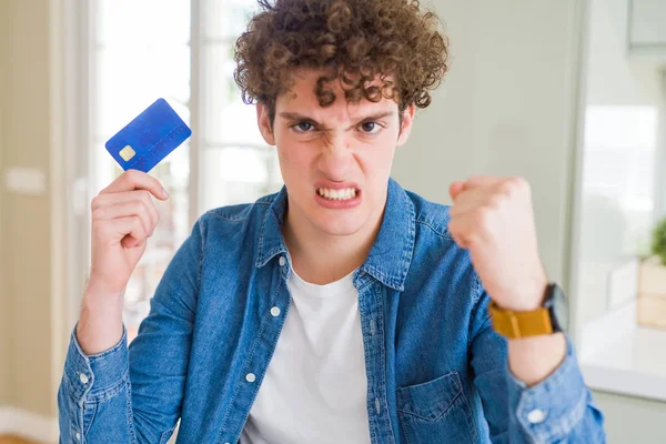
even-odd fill
[{"label": "both sides of the denim shirt's collar around the neck", "polygon": [[[278,254],[287,253],[282,223],[287,204],[286,188],[274,196],[262,222],[255,265],[264,266]],[[416,215],[407,193],[393,179],[389,179],[389,191],[384,219],[367,259],[360,270],[384,285],[404,290],[404,282],[412,263]]]}]

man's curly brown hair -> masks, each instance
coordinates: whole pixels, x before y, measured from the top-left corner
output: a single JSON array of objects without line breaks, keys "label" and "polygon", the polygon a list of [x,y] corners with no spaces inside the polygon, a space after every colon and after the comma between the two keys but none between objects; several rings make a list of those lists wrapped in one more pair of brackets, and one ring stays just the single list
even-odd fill
[{"label": "man's curly brown hair", "polygon": [[[259,0],[236,40],[234,79],[245,103],[262,102],[271,123],[275,100],[293,84],[293,70],[322,69],[315,94],[335,101],[327,83],[341,80],[347,101],[382,95],[400,111],[426,108],[447,71],[448,40],[418,0]],[[380,74],[381,87],[370,82]],[[389,79],[391,77],[391,79]],[[397,97],[395,97],[397,94]]]}]

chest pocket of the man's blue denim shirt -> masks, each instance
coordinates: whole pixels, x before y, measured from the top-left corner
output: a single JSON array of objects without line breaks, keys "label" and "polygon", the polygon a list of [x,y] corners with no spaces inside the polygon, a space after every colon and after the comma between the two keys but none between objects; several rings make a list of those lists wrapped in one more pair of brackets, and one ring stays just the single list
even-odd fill
[{"label": "chest pocket of the man's blue denim shirt", "polygon": [[457,372],[397,389],[397,415],[410,444],[477,441],[472,410]]}]

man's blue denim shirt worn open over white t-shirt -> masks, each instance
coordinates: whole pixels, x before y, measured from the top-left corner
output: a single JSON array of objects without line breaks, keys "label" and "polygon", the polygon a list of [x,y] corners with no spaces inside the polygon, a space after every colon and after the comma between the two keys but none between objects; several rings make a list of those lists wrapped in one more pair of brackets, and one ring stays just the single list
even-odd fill
[{"label": "man's blue denim shirt worn open over white t-shirt", "polygon": [[[354,273],[372,443],[605,442],[571,342],[545,381],[516,380],[470,254],[447,232],[450,208],[387,186]],[[129,350],[123,334],[87,356],[72,333],[61,443],[165,443],[179,418],[178,443],[239,441],[290,310],[286,202],[283,189],[202,215]]]}]

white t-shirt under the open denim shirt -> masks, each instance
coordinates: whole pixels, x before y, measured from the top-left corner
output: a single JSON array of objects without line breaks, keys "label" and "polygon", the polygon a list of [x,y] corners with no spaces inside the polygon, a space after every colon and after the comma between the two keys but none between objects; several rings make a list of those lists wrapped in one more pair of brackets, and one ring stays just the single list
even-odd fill
[{"label": "white t-shirt under the open denim shirt", "polygon": [[291,304],[241,444],[370,443],[353,273],[327,285],[292,270]]}]

